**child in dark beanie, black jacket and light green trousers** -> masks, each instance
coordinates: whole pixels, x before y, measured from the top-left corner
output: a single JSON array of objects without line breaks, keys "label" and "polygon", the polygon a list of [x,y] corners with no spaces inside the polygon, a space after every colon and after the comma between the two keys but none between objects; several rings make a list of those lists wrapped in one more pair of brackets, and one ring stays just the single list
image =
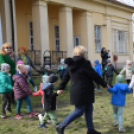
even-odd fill
[{"label": "child in dark beanie, black jacket and light green trousers", "polygon": [[45,126],[47,120],[50,119],[54,125],[58,125],[58,120],[56,116],[56,96],[57,93],[54,93],[54,85],[56,85],[58,77],[54,74],[49,76],[49,83],[43,83],[42,90],[44,91],[44,110],[45,115],[43,120],[39,123],[39,127],[48,128]]}]

